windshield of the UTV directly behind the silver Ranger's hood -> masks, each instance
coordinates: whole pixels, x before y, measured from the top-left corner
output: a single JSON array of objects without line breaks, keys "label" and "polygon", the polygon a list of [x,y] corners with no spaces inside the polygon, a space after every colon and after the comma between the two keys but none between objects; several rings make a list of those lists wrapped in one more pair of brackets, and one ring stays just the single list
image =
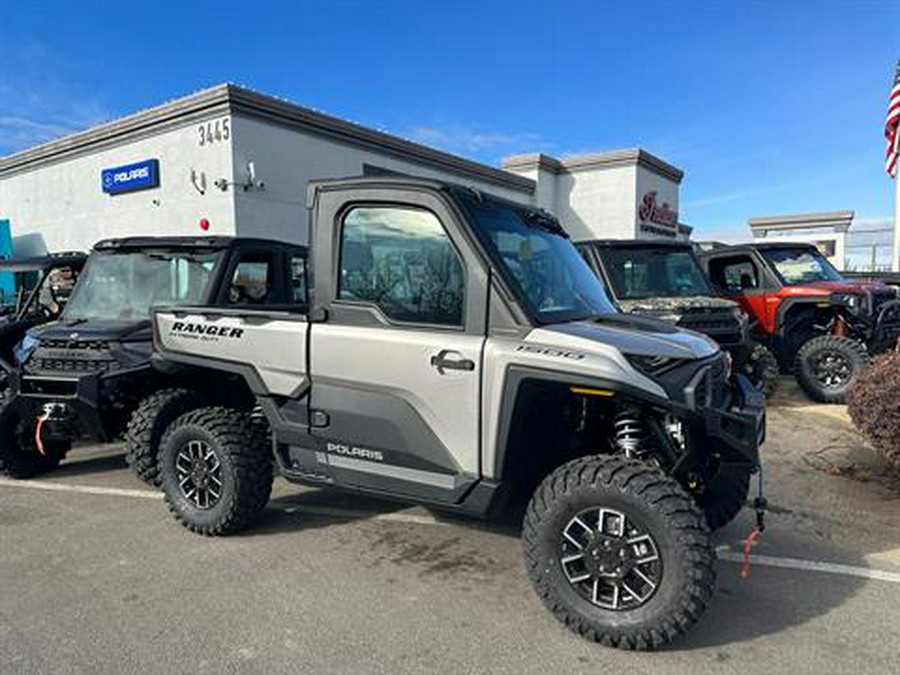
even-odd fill
[{"label": "windshield of the UTV directly behind the silver Ranger's hood", "polygon": [[700,263],[688,249],[604,248],[603,268],[619,300],[713,295]]}]

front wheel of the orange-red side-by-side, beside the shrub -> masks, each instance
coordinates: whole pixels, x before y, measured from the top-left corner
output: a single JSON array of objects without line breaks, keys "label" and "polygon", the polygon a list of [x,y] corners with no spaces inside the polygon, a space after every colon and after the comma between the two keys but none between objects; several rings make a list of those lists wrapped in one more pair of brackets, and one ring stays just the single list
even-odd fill
[{"label": "front wheel of the orange-red side-by-side, beside the shrub", "polygon": [[844,403],[850,385],[869,366],[863,344],[836,335],[822,335],[797,351],[794,375],[806,394],[819,403]]}]

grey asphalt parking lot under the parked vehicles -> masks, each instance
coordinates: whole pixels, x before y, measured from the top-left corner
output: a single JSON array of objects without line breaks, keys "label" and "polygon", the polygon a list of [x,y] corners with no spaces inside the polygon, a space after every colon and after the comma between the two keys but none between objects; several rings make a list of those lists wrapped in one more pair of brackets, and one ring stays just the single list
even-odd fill
[{"label": "grey asphalt parking lot under the parked vehicles", "polygon": [[511,518],[279,481],[253,531],[205,539],[107,447],[0,482],[0,672],[897,672],[900,492],[843,409],[786,389],[750,577],[734,550],[745,512],[719,534],[710,610],[665,651],[605,649],[559,625]]}]

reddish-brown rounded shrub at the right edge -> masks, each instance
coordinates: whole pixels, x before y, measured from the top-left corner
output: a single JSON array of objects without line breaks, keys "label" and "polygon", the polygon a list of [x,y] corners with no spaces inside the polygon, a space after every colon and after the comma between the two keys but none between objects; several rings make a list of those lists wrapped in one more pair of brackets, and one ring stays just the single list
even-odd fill
[{"label": "reddish-brown rounded shrub at the right edge", "polygon": [[856,378],[847,410],[856,428],[900,471],[900,353],[875,358]]}]

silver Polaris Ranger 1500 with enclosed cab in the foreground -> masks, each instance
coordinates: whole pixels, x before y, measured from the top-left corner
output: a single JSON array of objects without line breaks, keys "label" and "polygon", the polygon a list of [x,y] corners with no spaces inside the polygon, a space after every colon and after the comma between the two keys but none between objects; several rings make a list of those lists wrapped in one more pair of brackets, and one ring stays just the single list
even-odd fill
[{"label": "silver Polaris Ranger 1500 with enclosed cab in the foreground", "polygon": [[247,399],[165,432],[175,517],[246,527],[273,464],[476,516],[524,492],[528,573],[560,620],[629,649],[687,630],[713,592],[704,512],[742,505],[763,396],[707,337],[617,313],[546,213],[404,178],[313,184],[309,206],[308,312],[154,313],[158,368]]}]

